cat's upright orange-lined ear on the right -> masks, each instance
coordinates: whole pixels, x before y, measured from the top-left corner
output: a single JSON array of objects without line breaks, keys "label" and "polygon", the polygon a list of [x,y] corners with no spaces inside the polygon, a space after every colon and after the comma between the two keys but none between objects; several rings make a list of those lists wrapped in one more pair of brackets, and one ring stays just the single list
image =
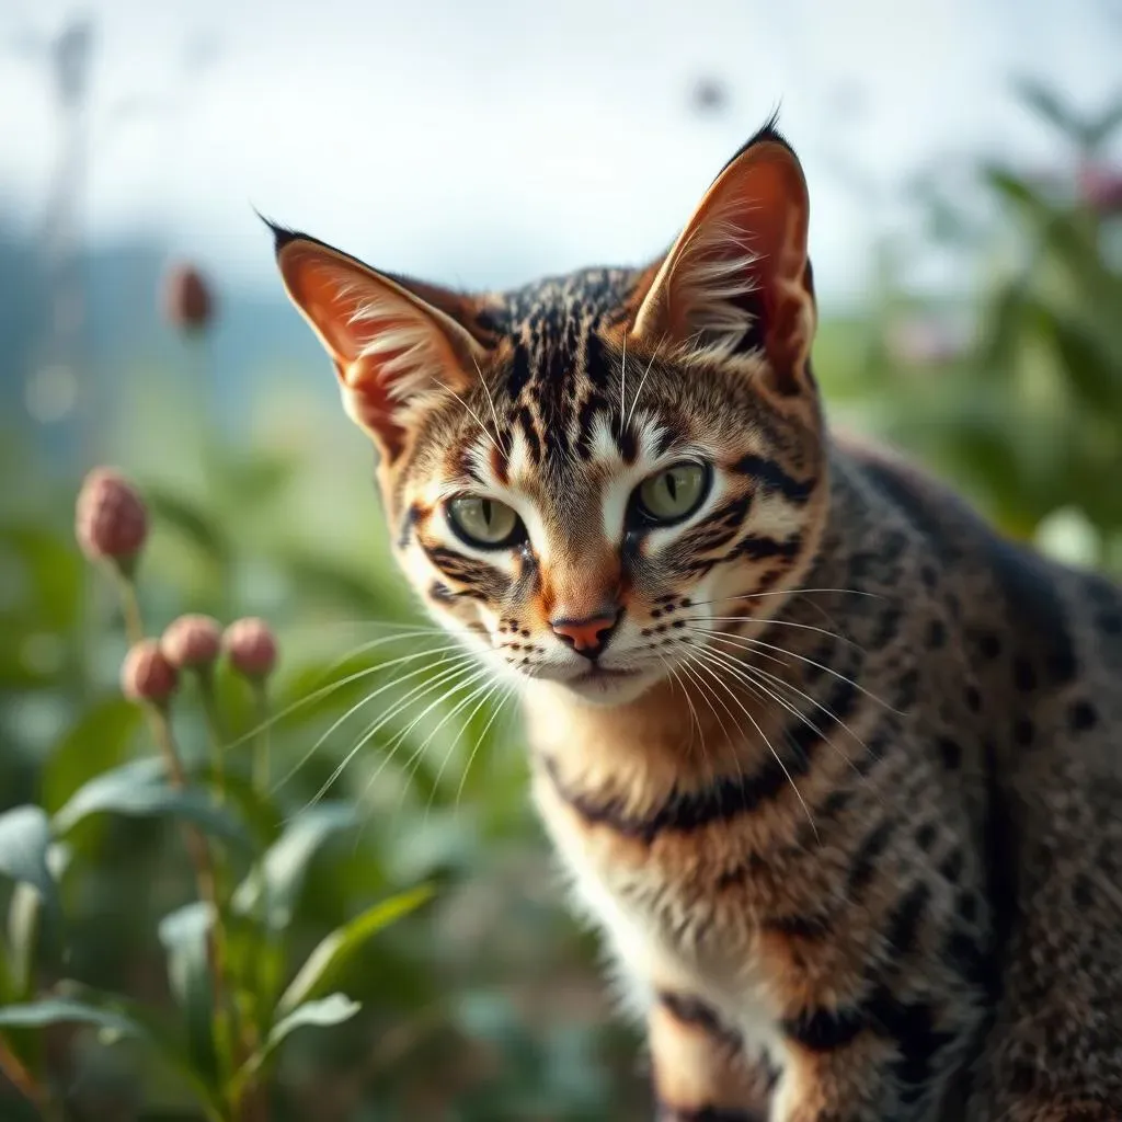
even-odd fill
[{"label": "cat's upright orange-lined ear on the right", "polygon": [[800,393],[815,332],[802,168],[769,123],[725,165],[656,266],[632,334],[719,355],[761,349],[774,387]]}]

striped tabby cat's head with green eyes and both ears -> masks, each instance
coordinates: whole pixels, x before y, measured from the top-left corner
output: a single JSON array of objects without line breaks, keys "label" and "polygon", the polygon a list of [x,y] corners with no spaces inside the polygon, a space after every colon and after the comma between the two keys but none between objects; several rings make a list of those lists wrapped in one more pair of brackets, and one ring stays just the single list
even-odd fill
[{"label": "striped tabby cat's head with green eyes and both ears", "polygon": [[403,569],[497,669],[622,703],[800,579],[826,505],[808,209],[769,125],[643,269],[466,295],[275,231]]}]

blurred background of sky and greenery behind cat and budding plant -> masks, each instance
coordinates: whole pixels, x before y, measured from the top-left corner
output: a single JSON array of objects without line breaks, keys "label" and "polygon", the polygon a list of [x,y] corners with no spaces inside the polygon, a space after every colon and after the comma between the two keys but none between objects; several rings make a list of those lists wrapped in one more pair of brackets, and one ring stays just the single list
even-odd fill
[{"label": "blurred background of sky and greenery behind cat and budding plant", "polygon": [[[0,810],[54,813],[151,752],[118,695],[112,589],[73,537],[79,481],[108,462],[153,514],[148,631],[195,610],[279,635],[270,806],[291,821],[323,792],[337,816],[302,858],[293,962],[436,886],[340,975],[361,1012],[285,1042],[270,1118],[626,1120],[646,1092],[561,905],[513,706],[457,709],[462,683],[390,665],[438,641],[404,631],[373,453],[254,208],[457,286],[640,264],[778,105],[811,187],[835,421],[1005,533],[1122,573],[1120,57],[1119,0],[0,8]],[[377,712],[342,719],[374,682]],[[201,754],[197,718],[177,720]],[[68,838],[65,938],[34,992],[79,980],[174,1034],[157,929],[191,896],[181,848],[158,818]],[[12,1001],[28,937],[2,891]],[[58,1118],[203,1116],[104,1033],[22,1031],[9,1047]],[[0,1116],[37,1116],[2,1079]]]}]

